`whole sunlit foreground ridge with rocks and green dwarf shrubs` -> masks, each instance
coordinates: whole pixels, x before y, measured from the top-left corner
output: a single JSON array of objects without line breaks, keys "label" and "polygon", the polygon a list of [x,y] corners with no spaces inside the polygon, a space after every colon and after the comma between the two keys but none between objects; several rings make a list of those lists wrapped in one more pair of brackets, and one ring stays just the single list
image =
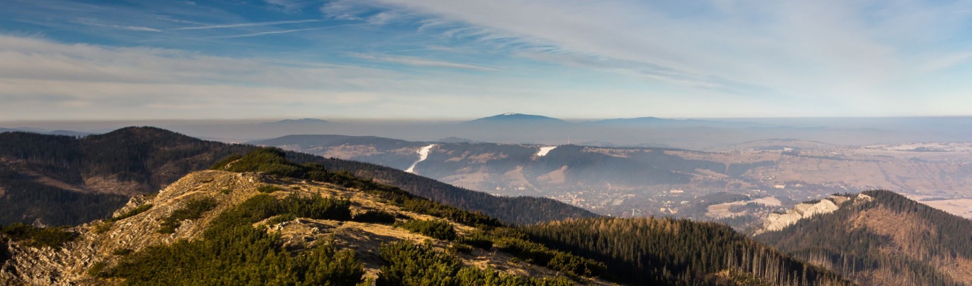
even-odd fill
[{"label": "whole sunlit foreground ridge with rocks and green dwarf shrubs", "polygon": [[217,168],[109,220],[0,227],[0,285],[610,284],[496,219],[282,152]]}]

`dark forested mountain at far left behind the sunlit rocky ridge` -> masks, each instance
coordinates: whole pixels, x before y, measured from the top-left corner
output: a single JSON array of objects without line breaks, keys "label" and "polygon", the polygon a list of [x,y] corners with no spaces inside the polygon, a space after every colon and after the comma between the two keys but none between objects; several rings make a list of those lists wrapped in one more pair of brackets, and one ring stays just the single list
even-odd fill
[{"label": "dark forested mountain at far left behind the sunlit rocky ridge", "polygon": [[0,133],[0,224],[102,219],[128,197],[157,192],[193,170],[248,149],[154,127],[82,138]]}]

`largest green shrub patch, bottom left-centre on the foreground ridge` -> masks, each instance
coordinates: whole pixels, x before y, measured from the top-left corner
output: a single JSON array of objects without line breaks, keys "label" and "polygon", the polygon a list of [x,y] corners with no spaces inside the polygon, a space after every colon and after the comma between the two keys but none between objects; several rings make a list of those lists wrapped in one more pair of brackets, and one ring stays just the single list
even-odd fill
[{"label": "largest green shrub patch, bottom left-centre on the foreground ridge", "polygon": [[[311,198],[301,198],[311,199]],[[336,199],[335,199],[336,200]],[[364,269],[352,250],[330,244],[293,254],[279,233],[252,224],[288,211],[295,200],[251,197],[217,216],[202,239],[178,240],[125,256],[107,271],[127,285],[356,285]],[[332,205],[341,205],[334,203]]]}]

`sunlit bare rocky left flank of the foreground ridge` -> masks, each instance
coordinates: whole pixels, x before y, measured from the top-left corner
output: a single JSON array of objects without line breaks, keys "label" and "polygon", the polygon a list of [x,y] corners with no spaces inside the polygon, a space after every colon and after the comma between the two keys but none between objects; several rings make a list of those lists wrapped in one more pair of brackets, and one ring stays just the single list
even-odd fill
[{"label": "sunlit bare rocky left flank of the foreground ridge", "polygon": [[[61,248],[36,248],[10,242],[7,252],[11,258],[0,265],[0,285],[101,284],[87,275],[87,269],[99,262],[111,263],[120,259],[112,255],[114,250],[138,251],[180,238],[191,239],[201,234],[204,222],[215,218],[219,211],[258,194],[256,188],[261,181],[267,181],[267,178],[258,173],[195,172],[156,196],[132,197],[113,217],[139,205],[152,203],[153,207],[143,213],[116,222],[95,221],[68,229],[68,232],[78,233],[78,237]],[[235,194],[223,195],[219,192],[226,189],[234,190]],[[197,197],[216,198],[220,206],[203,218],[183,222],[175,233],[156,232],[165,217]]]}]

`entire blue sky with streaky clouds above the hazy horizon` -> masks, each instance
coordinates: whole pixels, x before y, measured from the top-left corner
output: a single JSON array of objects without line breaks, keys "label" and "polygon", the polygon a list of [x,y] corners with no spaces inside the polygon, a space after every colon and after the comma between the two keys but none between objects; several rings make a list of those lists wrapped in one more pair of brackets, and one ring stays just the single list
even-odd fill
[{"label": "entire blue sky with streaky clouds above the hazy horizon", "polygon": [[56,1],[0,121],[972,115],[972,2]]}]

